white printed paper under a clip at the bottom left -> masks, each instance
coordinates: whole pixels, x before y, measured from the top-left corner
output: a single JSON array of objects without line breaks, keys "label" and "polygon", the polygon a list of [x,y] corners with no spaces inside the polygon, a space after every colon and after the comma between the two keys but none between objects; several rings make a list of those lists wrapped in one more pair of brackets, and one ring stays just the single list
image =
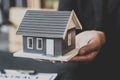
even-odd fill
[{"label": "white printed paper under a clip at the bottom left", "polygon": [[0,80],[54,80],[56,77],[57,73],[38,73],[35,75],[21,73],[0,73]]}]

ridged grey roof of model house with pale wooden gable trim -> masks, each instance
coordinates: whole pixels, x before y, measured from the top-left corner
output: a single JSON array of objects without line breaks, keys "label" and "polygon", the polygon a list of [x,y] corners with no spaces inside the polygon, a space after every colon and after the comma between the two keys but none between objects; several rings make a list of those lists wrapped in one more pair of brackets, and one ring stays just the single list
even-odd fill
[{"label": "ridged grey roof of model house with pale wooden gable trim", "polygon": [[64,39],[74,27],[82,28],[74,11],[27,10],[16,34]]}]

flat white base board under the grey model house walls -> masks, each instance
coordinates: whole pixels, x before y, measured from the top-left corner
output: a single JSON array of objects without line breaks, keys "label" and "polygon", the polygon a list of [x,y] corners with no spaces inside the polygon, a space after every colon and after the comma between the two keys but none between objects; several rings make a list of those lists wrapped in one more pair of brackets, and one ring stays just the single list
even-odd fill
[{"label": "flat white base board under the grey model house walls", "polygon": [[44,59],[44,60],[55,60],[55,61],[69,61],[72,57],[78,54],[79,49],[73,49],[72,51],[66,53],[63,56],[46,56],[43,54],[33,54],[26,53],[23,50],[14,53],[15,57],[23,57],[23,58],[32,58],[32,59]]}]

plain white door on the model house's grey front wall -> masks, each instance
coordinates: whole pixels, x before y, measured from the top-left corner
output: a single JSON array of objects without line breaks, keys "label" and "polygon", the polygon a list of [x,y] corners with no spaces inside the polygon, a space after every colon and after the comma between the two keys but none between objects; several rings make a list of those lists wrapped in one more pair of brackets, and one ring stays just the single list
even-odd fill
[{"label": "plain white door on the model house's grey front wall", "polygon": [[46,55],[54,56],[54,40],[53,39],[46,40]]}]

